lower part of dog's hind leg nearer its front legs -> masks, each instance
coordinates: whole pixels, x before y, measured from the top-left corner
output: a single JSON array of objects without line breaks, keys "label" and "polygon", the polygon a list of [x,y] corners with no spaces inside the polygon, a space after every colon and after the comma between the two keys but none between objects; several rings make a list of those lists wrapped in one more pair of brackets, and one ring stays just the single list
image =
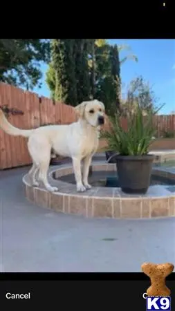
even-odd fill
[{"label": "lower part of dog's hind leg nearer its front legs", "polygon": [[48,191],[51,191],[51,192],[58,191],[57,187],[52,187],[48,182],[47,172],[48,172],[49,163],[50,163],[50,153],[49,153],[48,157],[46,157],[46,155],[45,155],[44,160],[39,162],[39,176],[38,176],[38,178],[41,182],[43,182],[44,187],[46,187],[46,189]]}]

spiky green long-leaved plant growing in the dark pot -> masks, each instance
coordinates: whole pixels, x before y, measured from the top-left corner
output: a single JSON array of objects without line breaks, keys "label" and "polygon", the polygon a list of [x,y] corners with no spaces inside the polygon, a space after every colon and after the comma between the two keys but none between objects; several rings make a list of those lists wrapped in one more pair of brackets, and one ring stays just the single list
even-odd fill
[{"label": "spiky green long-leaved plant growing in the dark pot", "polygon": [[122,128],[119,115],[109,116],[110,129],[101,133],[101,138],[107,140],[106,150],[116,151],[121,156],[142,156],[147,154],[152,137],[156,133],[152,122],[155,113],[150,112],[144,117],[142,109],[138,105],[135,113],[128,118],[127,131]]}]

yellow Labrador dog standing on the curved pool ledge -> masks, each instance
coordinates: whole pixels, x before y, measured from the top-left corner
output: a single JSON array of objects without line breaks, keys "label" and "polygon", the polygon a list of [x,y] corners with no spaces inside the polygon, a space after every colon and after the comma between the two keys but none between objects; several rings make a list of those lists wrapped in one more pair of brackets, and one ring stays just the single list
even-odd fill
[{"label": "yellow Labrador dog standing on the curved pool ledge", "polygon": [[[37,129],[17,129],[6,119],[0,109],[0,127],[10,135],[21,135],[28,139],[28,151],[33,159],[29,176],[33,186],[38,187],[42,181],[48,191],[57,191],[47,178],[50,162],[50,150],[59,156],[68,156],[73,160],[73,170],[77,191],[90,189],[88,183],[89,167],[95,151],[98,149],[100,125],[104,124],[104,104],[98,100],[82,102],[75,107],[79,120],[69,125],[40,126]],[[83,167],[81,170],[81,161]]]}]

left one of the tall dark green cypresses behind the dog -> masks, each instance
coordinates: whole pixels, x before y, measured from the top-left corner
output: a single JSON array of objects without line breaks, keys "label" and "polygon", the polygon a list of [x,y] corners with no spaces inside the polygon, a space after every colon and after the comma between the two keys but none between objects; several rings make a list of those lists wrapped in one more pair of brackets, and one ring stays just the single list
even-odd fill
[{"label": "left one of the tall dark green cypresses behind the dog", "polygon": [[89,41],[53,39],[46,83],[55,100],[76,106],[90,98]]}]

